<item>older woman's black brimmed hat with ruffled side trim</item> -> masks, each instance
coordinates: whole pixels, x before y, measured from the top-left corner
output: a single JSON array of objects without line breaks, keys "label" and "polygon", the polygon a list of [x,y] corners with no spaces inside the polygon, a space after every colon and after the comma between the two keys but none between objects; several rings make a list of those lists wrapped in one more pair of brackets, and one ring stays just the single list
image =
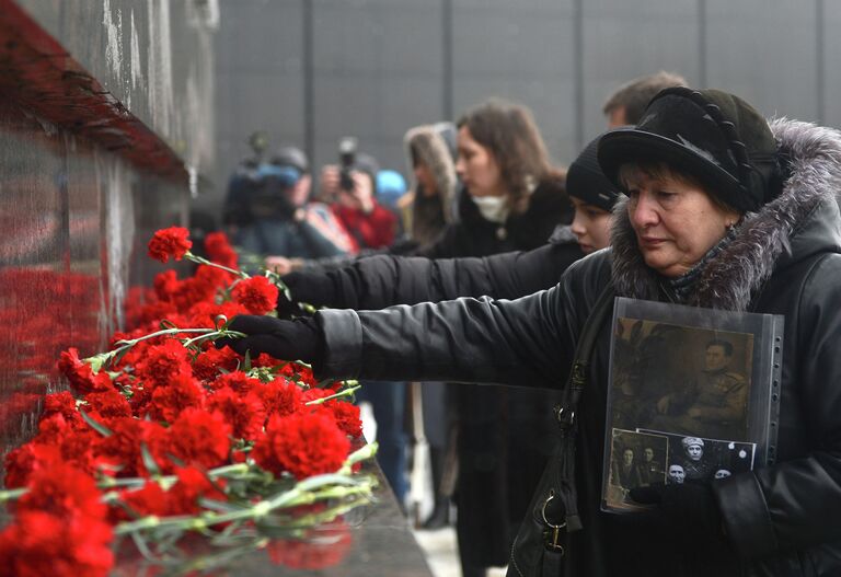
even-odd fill
[{"label": "older woman's black brimmed hat with ruffled side trim", "polygon": [[663,162],[698,180],[722,203],[757,210],[782,189],[777,145],[750,104],[718,90],[670,88],[659,92],[633,128],[601,137],[604,175],[621,186],[626,162]]}]

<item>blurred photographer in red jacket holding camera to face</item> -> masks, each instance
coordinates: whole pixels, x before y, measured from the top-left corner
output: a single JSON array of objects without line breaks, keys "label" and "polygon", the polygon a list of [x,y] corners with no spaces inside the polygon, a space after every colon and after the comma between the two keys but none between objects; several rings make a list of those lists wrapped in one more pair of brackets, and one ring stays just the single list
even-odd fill
[{"label": "blurred photographer in red jacket holding camera to face", "polygon": [[321,171],[322,197],[355,241],[356,250],[385,249],[394,242],[398,217],[377,201],[377,160],[357,152],[355,138],[338,145],[339,165]]}]

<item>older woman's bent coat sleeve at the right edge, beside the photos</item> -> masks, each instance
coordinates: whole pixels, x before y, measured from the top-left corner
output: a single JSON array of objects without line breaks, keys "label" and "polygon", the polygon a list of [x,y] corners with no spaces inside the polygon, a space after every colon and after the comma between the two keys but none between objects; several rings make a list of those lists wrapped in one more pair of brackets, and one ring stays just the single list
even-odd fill
[{"label": "older woman's bent coat sleeve at the right edge, beside the photos", "polygon": [[786,331],[781,412],[798,412],[800,430],[787,432],[803,435],[807,450],[714,485],[725,530],[747,558],[841,540],[839,277],[841,256],[822,259],[804,285],[794,318],[786,314],[796,333]]}]

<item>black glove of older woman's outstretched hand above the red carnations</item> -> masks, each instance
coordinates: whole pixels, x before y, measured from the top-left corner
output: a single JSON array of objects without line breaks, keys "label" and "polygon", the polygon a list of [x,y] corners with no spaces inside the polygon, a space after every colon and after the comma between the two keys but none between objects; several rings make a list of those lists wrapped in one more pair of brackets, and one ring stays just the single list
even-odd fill
[{"label": "black glove of older woman's outstretched hand above the red carnations", "polygon": [[302,360],[316,365],[322,356],[321,328],[312,318],[281,321],[272,316],[240,314],[228,325],[231,331],[245,333],[243,338],[220,338],[216,346],[229,346],[240,355],[261,353],[284,360]]}]

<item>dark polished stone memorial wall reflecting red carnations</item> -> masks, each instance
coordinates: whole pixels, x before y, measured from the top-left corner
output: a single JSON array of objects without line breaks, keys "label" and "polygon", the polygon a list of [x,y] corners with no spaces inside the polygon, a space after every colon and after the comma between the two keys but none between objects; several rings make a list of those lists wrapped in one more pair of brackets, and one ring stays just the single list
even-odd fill
[{"label": "dark polished stone memorial wall reflecting red carnations", "polygon": [[[82,356],[102,350],[124,326],[130,288],[148,286],[160,269],[146,257],[146,242],[158,228],[186,223],[191,183],[195,192],[201,172],[198,150],[208,137],[175,122],[201,108],[200,99],[191,106],[186,97],[200,74],[158,82],[162,60],[173,78],[176,64],[196,69],[187,64],[204,61],[197,49],[176,53],[172,43],[150,42],[162,34],[197,37],[186,30],[178,34],[178,26],[189,27],[178,18],[181,4],[175,10],[151,2],[154,10],[133,11],[130,2],[1,3],[0,450],[5,452],[33,435],[43,394],[62,386],[55,368],[59,353],[71,346]],[[125,27],[103,25],[124,19]],[[180,48],[187,48],[184,42]],[[108,43],[112,50],[125,44],[138,54],[97,58]],[[128,82],[115,82],[119,78]],[[140,116],[129,111],[131,101]]]}]

